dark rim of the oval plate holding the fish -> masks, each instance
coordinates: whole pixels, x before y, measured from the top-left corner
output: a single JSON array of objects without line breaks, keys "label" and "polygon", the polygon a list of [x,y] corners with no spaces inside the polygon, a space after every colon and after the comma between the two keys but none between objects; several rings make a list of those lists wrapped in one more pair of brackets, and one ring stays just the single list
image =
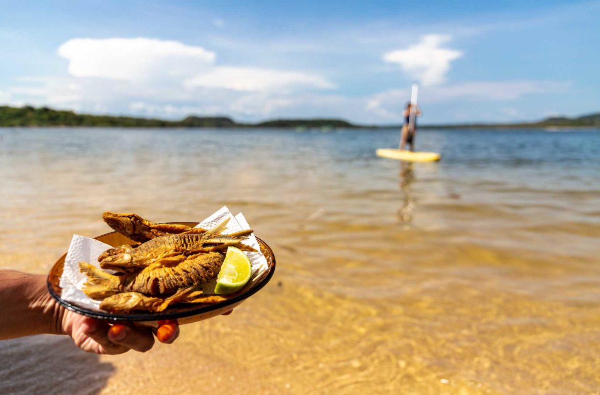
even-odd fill
[{"label": "dark rim of the oval plate holding the fish", "polygon": [[[164,223],[165,224],[195,224],[195,225],[199,224],[199,222],[164,222]],[[113,232],[109,232],[109,233],[104,233],[104,234],[101,234],[100,236],[94,237],[94,239],[99,239],[100,237],[107,236],[107,235],[113,234],[113,233],[118,233],[118,232],[113,231]],[[260,291],[271,280],[273,274],[275,273],[275,254],[273,253],[273,250],[271,249],[271,247],[267,243],[264,242],[264,240],[260,239],[259,237],[256,237],[256,240],[259,242],[260,245],[265,246],[265,248],[271,253],[271,257],[272,257],[272,261],[273,261],[272,265],[269,266],[269,268],[268,268],[268,272],[266,273],[265,278],[263,278],[258,284],[254,285],[254,287],[252,287],[250,290],[248,290],[245,293],[239,294],[232,298],[228,298],[227,300],[220,301],[218,303],[208,304],[206,306],[200,306],[200,307],[196,307],[196,308],[191,308],[191,309],[185,310],[185,311],[172,312],[172,313],[169,313],[169,312],[154,312],[154,313],[147,313],[147,314],[140,313],[140,314],[136,314],[136,315],[130,315],[130,314],[123,314],[123,313],[110,313],[110,312],[100,312],[100,311],[95,311],[95,310],[89,310],[89,309],[85,309],[83,307],[76,306],[72,303],[69,303],[68,301],[63,300],[60,296],[58,296],[58,294],[55,293],[55,291],[53,289],[52,281],[50,281],[50,275],[52,275],[53,270],[56,266],[56,263],[58,263],[58,261],[60,261],[63,257],[66,257],[66,255],[67,255],[66,253],[61,258],[59,258],[58,261],[56,261],[56,263],[52,266],[52,269],[50,269],[50,273],[48,274],[48,276],[46,278],[46,287],[47,287],[50,295],[61,306],[65,307],[65,309],[71,310],[73,312],[76,312],[76,313],[79,313],[81,315],[85,315],[85,316],[88,316],[91,318],[103,319],[104,321],[106,321],[106,320],[109,320],[109,321],[164,321],[167,319],[185,318],[188,316],[194,316],[194,315],[199,315],[202,313],[208,313],[208,312],[218,310],[223,307],[227,307],[232,304],[244,301],[245,299],[253,296],[258,291]]]}]

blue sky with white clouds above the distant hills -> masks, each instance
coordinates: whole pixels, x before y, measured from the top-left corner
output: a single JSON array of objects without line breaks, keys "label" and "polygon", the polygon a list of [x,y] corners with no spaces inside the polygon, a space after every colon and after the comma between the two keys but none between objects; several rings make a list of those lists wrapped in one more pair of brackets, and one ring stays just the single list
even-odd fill
[{"label": "blue sky with white clouds above the distant hills", "polygon": [[244,122],[600,112],[600,1],[3,1],[0,105]]}]

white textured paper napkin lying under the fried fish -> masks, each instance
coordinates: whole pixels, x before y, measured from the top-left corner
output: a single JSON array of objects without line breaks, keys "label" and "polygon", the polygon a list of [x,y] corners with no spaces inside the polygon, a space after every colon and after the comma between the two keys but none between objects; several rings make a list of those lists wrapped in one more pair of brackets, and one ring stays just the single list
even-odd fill
[{"label": "white textured paper napkin lying under the fried fish", "polygon": [[[238,215],[233,216],[229,209],[227,209],[227,206],[221,207],[220,210],[206,218],[204,221],[200,222],[200,224],[198,224],[196,227],[210,229],[220,224],[227,218],[229,218],[229,222],[227,223],[225,231],[226,233],[250,229],[250,225],[248,225],[244,215],[239,213]],[[245,254],[248,255],[248,259],[250,259],[250,263],[252,265],[252,276],[250,278],[250,282],[254,282],[257,281],[257,279],[260,277],[260,275],[262,275],[262,273],[265,272],[265,270],[268,269],[269,265],[266,262],[265,255],[260,252],[260,245],[257,242],[256,237],[254,237],[254,234],[251,234],[250,237],[244,241],[244,244],[258,251],[245,251]],[[99,242],[98,240],[85,236],[79,236],[77,234],[73,235],[73,239],[71,239],[71,244],[69,245],[69,249],[67,251],[67,257],[65,258],[64,269],[62,270],[60,281],[62,288],[61,298],[63,300],[76,304],[79,307],[101,311],[99,307],[100,301],[88,297],[82,291],[83,284],[87,281],[87,278],[83,273],[79,272],[79,263],[88,262],[96,267],[100,267],[100,264],[98,263],[98,257],[109,248],[112,248],[112,246],[103,242]],[[113,270],[104,271],[108,273],[115,273]],[[215,282],[216,281],[212,281],[206,285],[204,288],[205,293],[212,293],[214,291]]]}]

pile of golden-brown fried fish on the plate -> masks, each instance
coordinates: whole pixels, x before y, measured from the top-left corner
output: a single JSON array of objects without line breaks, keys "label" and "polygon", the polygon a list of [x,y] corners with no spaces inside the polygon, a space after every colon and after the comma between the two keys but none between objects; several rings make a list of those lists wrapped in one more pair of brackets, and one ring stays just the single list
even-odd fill
[{"label": "pile of golden-brown fried fish on the plate", "polygon": [[104,213],[103,218],[107,223],[114,220],[111,227],[130,239],[149,239],[141,245],[108,249],[98,257],[100,267],[115,270],[115,274],[79,263],[80,272],[87,277],[83,292],[101,300],[100,308],[108,311],[158,312],[173,303],[225,300],[203,295],[200,288],[217,277],[229,246],[255,251],[242,243],[252,230],[224,234],[229,220],[204,230],[154,224],[135,214]]}]

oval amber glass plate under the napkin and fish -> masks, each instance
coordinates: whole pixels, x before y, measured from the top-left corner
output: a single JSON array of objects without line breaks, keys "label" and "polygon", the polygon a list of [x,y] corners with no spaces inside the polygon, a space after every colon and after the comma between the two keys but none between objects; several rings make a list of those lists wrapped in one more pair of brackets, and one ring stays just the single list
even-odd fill
[{"label": "oval amber glass plate under the napkin and fish", "polygon": [[[198,222],[169,222],[169,224],[195,227]],[[94,239],[100,240],[101,242],[113,247],[118,247],[125,244],[136,244],[136,242],[128,239],[118,232],[106,233],[102,236],[94,237]],[[61,298],[62,288],[59,284],[65,258],[67,257],[66,253],[62,255],[62,257],[56,261],[54,266],[52,266],[52,269],[50,269],[50,274],[48,275],[48,290],[50,291],[50,295],[52,295],[52,297],[54,297],[58,303],[60,303],[66,309],[92,318],[104,319],[112,322],[133,322],[135,325],[147,327],[158,327],[160,321],[166,320],[175,321],[179,325],[190,324],[191,322],[202,321],[203,319],[212,318],[228,312],[234,307],[239,306],[248,297],[257,293],[262,287],[265,287],[269,280],[271,280],[271,277],[275,272],[275,255],[273,254],[271,248],[265,242],[263,242],[263,240],[259,239],[258,237],[256,240],[259,242],[260,251],[265,255],[266,262],[269,266],[268,269],[265,270],[265,272],[263,272],[252,284],[247,284],[238,292],[227,295],[227,300],[219,303],[203,306],[198,306],[197,304],[179,304],[157,313],[131,312],[125,314],[99,312],[85,309],[84,307],[79,307],[76,304],[62,300]]]}]

